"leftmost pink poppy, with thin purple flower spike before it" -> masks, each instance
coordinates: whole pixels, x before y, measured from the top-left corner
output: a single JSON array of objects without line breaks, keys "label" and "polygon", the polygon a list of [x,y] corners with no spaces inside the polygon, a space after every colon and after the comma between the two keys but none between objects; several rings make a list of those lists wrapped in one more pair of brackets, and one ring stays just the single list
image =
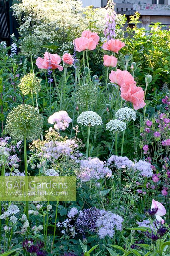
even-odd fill
[{"label": "leftmost pink poppy, with thin purple flower spike before it", "polygon": [[61,62],[61,58],[58,54],[51,54],[51,53],[45,52],[44,59],[38,57],[36,59],[35,64],[37,65],[38,68],[44,68],[44,69],[58,68],[59,71],[62,71],[63,67],[61,65],[59,65],[60,62]]}]

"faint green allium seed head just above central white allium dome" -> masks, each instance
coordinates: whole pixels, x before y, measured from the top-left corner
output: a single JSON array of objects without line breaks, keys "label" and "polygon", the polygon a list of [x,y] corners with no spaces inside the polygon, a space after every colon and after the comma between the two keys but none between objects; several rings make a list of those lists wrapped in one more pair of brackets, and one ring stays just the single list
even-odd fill
[{"label": "faint green allium seed head just above central white allium dome", "polygon": [[97,97],[97,90],[94,84],[82,84],[78,87],[76,92],[77,103],[85,107],[86,104],[92,105],[95,103]]}]

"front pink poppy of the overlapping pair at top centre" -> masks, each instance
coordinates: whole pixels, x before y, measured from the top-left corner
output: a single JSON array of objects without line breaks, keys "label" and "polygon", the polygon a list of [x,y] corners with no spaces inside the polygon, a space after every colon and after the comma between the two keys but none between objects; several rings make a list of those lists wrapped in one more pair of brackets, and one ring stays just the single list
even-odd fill
[{"label": "front pink poppy of the overlapping pair at top centre", "polygon": [[73,43],[75,42],[76,51],[82,52],[85,50],[92,51],[96,48],[96,43],[90,38],[87,37],[78,37],[76,38]]}]

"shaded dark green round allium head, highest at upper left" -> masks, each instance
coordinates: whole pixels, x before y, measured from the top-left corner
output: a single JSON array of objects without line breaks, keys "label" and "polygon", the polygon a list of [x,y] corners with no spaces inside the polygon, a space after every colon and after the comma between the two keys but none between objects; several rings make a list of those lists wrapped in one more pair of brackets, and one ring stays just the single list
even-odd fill
[{"label": "shaded dark green round allium head, highest at upper left", "polygon": [[31,55],[36,56],[41,50],[41,42],[36,36],[26,36],[21,42],[21,53],[29,57]]}]

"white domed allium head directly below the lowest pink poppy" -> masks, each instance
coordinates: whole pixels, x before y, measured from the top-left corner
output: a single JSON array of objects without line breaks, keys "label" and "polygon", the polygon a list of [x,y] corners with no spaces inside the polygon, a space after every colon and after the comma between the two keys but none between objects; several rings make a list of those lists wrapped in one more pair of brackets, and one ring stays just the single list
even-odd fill
[{"label": "white domed allium head directly below the lowest pink poppy", "polygon": [[131,119],[135,121],[136,119],[136,112],[132,108],[119,108],[116,111],[115,117],[121,121],[130,121]]}]

